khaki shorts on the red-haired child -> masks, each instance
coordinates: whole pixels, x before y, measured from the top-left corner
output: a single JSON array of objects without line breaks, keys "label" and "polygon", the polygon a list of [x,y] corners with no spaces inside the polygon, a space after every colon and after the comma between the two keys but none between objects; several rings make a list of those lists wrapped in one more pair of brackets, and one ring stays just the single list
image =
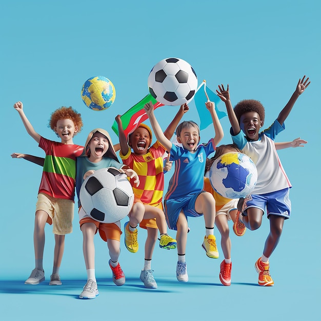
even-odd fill
[{"label": "khaki shorts on the red-haired child", "polygon": [[71,199],[55,198],[45,193],[38,194],[36,211],[48,214],[47,223],[52,226],[52,232],[65,235],[72,232],[74,203]]}]

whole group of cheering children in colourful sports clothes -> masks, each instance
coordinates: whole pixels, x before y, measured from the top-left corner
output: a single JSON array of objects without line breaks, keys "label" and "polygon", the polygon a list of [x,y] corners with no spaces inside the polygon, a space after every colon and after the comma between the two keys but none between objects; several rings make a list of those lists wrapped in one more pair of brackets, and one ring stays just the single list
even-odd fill
[{"label": "whole group of cheering children in colourful sports clothes", "polygon": [[[290,182],[282,168],[276,149],[302,146],[306,142],[295,139],[289,143],[274,143],[275,136],[285,129],[284,122],[296,99],[309,86],[309,78],[299,79],[296,89],[288,104],[278,115],[276,121],[260,132],[264,124],[264,107],[253,99],[239,102],[233,109],[230,101],[229,86],[218,86],[217,95],[225,103],[231,123],[233,144],[218,146],[224,133],[219,123],[215,106],[206,103],[209,110],[215,135],[207,144],[199,144],[199,127],[193,121],[180,119],[188,111],[182,105],[165,132],[160,128],[154,115],[152,103],[145,105],[145,111],[156,136],[156,143],[151,145],[152,131],[145,124],[125,136],[121,117],[116,116],[119,132],[119,145],[112,145],[110,136],[103,129],[94,129],[88,135],[85,147],[73,144],[73,136],[81,131],[81,115],[71,107],[62,107],[54,111],[50,118],[50,127],[61,139],[60,143],[49,141],[35,132],[28,121],[23,104],[17,102],[14,108],[22,118],[27,132],[45,150],[46,157],[35,157],[27,154],[13,153],[12,157],[25,158],[44,167],[41,185],[36,203],[34,226],[35,268],[26,284],[39,284],[45,280],[43,253],[45,245],[45,224],[53,225],[55,236],[53,271],[49,285],[61,285],[59,267],[64,252],[65,235],[72,232],[74,212],[74,186],[77,195],[84,179],[94,170],[115,167],[124,172],[130,179],[134,192],[134,204],[125,223],[125,246],[135,253],[138,250],[137,226],[147,230],[145,242],[145,262],[140,279],[146,288],[157,288],[151,269],[152,253],[156,244],[158,230],[159,247],[175,249],[177,247],[176,278],[187,282],[187,264],[185,260],[188,216],[204,216],[205,236],[202,247],[210,258],[218,258],[214,236],[214,224],[220,232],[224,260],[220,264],[219,279],[225,286],[231,284],[231,240],[229,237],[228,219],[233,220],[233,230],[242,236],[246,228],[255,230],[262,224],[265,209],[270,220],[270,233],[265,242],[263,255],[255,263],[258,284],[272,286],[269,273],[269,257],[277,246],[284,220],[289,218],[291,203],[289,199]],[[178,126],[177,126],[178,125]],[[177,128],[176,128],[177,127]],[[176,129],[177,142],[172,144],[171,136]],[[118,162],[116,151],[123,164]],[[174,162],[175,168],[170,179],[168,191],[164,198],[164,162],[163,155]],[[215,152],[214,157],[208,156]],[[258,171],[258,180],[251,195],[244,200],[227,199],[217,194],[209,184],[208,171],[214,159],[227,152],[243,152],[250,156]],[[170,170],[171,162],[167,162]],[[79,199],[79,197],[78,197]],[[99,223],[83,210],[78,200],[79,224],[83,233],[83,253],[87,270],[87,283],[80,298],[94,298],[98,295],[94,267],[93,238],[98,231],[107,242],[113,282],[117,286],[125,283],[125,274],[118,263],[120,253],[121,224]],[[222,215],[224,214],[224,215]],[[167,234],[167,227],[176,230],[176,239]]]}]

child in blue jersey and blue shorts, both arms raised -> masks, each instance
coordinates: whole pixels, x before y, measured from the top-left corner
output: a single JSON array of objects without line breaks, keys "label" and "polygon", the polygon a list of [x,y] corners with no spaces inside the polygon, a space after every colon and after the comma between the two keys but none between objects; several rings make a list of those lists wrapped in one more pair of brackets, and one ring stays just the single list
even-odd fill
[{"label": "child in blue jersey and blue shorts, both arms raised", "polygon": [[198,145],[199,127],[192,121],[183,122],[176,129],[177,141],[183,147],[175,146],[165,137],[155,118],[152,103],[148,103],[144,107],[157,140],[167,149],[171,154],[171,159],[175,161],[175,171],[165,196],[164,207],[168,227],[177,230],[176,277],[179,282],[188,281],[185,262],[188,216],[204,215],[206,235],[202,247],[208,257],[218,257],[214,236],[215,200],[210,193],[203,190],[206,157],[215,151],[216,145],[224,135],[214,107],[214,103],[206,103],[206,108],[210,111],[213,119],[215,137],[210,139],[208,144]]}]

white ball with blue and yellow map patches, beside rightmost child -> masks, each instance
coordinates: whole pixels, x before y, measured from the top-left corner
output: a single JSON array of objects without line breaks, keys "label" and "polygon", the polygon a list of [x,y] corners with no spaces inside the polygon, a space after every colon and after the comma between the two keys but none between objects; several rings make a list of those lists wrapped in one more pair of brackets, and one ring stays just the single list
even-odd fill
[{"label": "white ball with blue and yellow map patches, beside rightmost child", "polygon": [[242,153],[226,153],[215,159],[210,168],[213,189],[226,198],[240,198],[252,193],[257,170],[253,160]]}]

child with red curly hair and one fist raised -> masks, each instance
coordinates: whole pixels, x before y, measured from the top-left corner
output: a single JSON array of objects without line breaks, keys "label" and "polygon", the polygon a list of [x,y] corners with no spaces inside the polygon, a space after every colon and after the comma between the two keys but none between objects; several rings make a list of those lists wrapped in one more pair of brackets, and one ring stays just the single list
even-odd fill
[{"label": "child with red curly hair and one fist raised", "polygon": [[13,107],[19,113],[28,134],[46,152],[33,232],[35,268],[25,284],[35,285],[45,280],[45,225],[49,223],[53,225],[55,235],[53,270],[49,285],[61,285],[59,268],[65,248],[65,235],[72,232],[75,162],[76,157],[84,150],[84,147],[73,143],[73,136],[82,129],[82,117],[71,107],[58,108],[51,114],[49,126],[61,139],[58,143],[42,137],[33,129],[24,113],[22,102],[16,102]]}]

